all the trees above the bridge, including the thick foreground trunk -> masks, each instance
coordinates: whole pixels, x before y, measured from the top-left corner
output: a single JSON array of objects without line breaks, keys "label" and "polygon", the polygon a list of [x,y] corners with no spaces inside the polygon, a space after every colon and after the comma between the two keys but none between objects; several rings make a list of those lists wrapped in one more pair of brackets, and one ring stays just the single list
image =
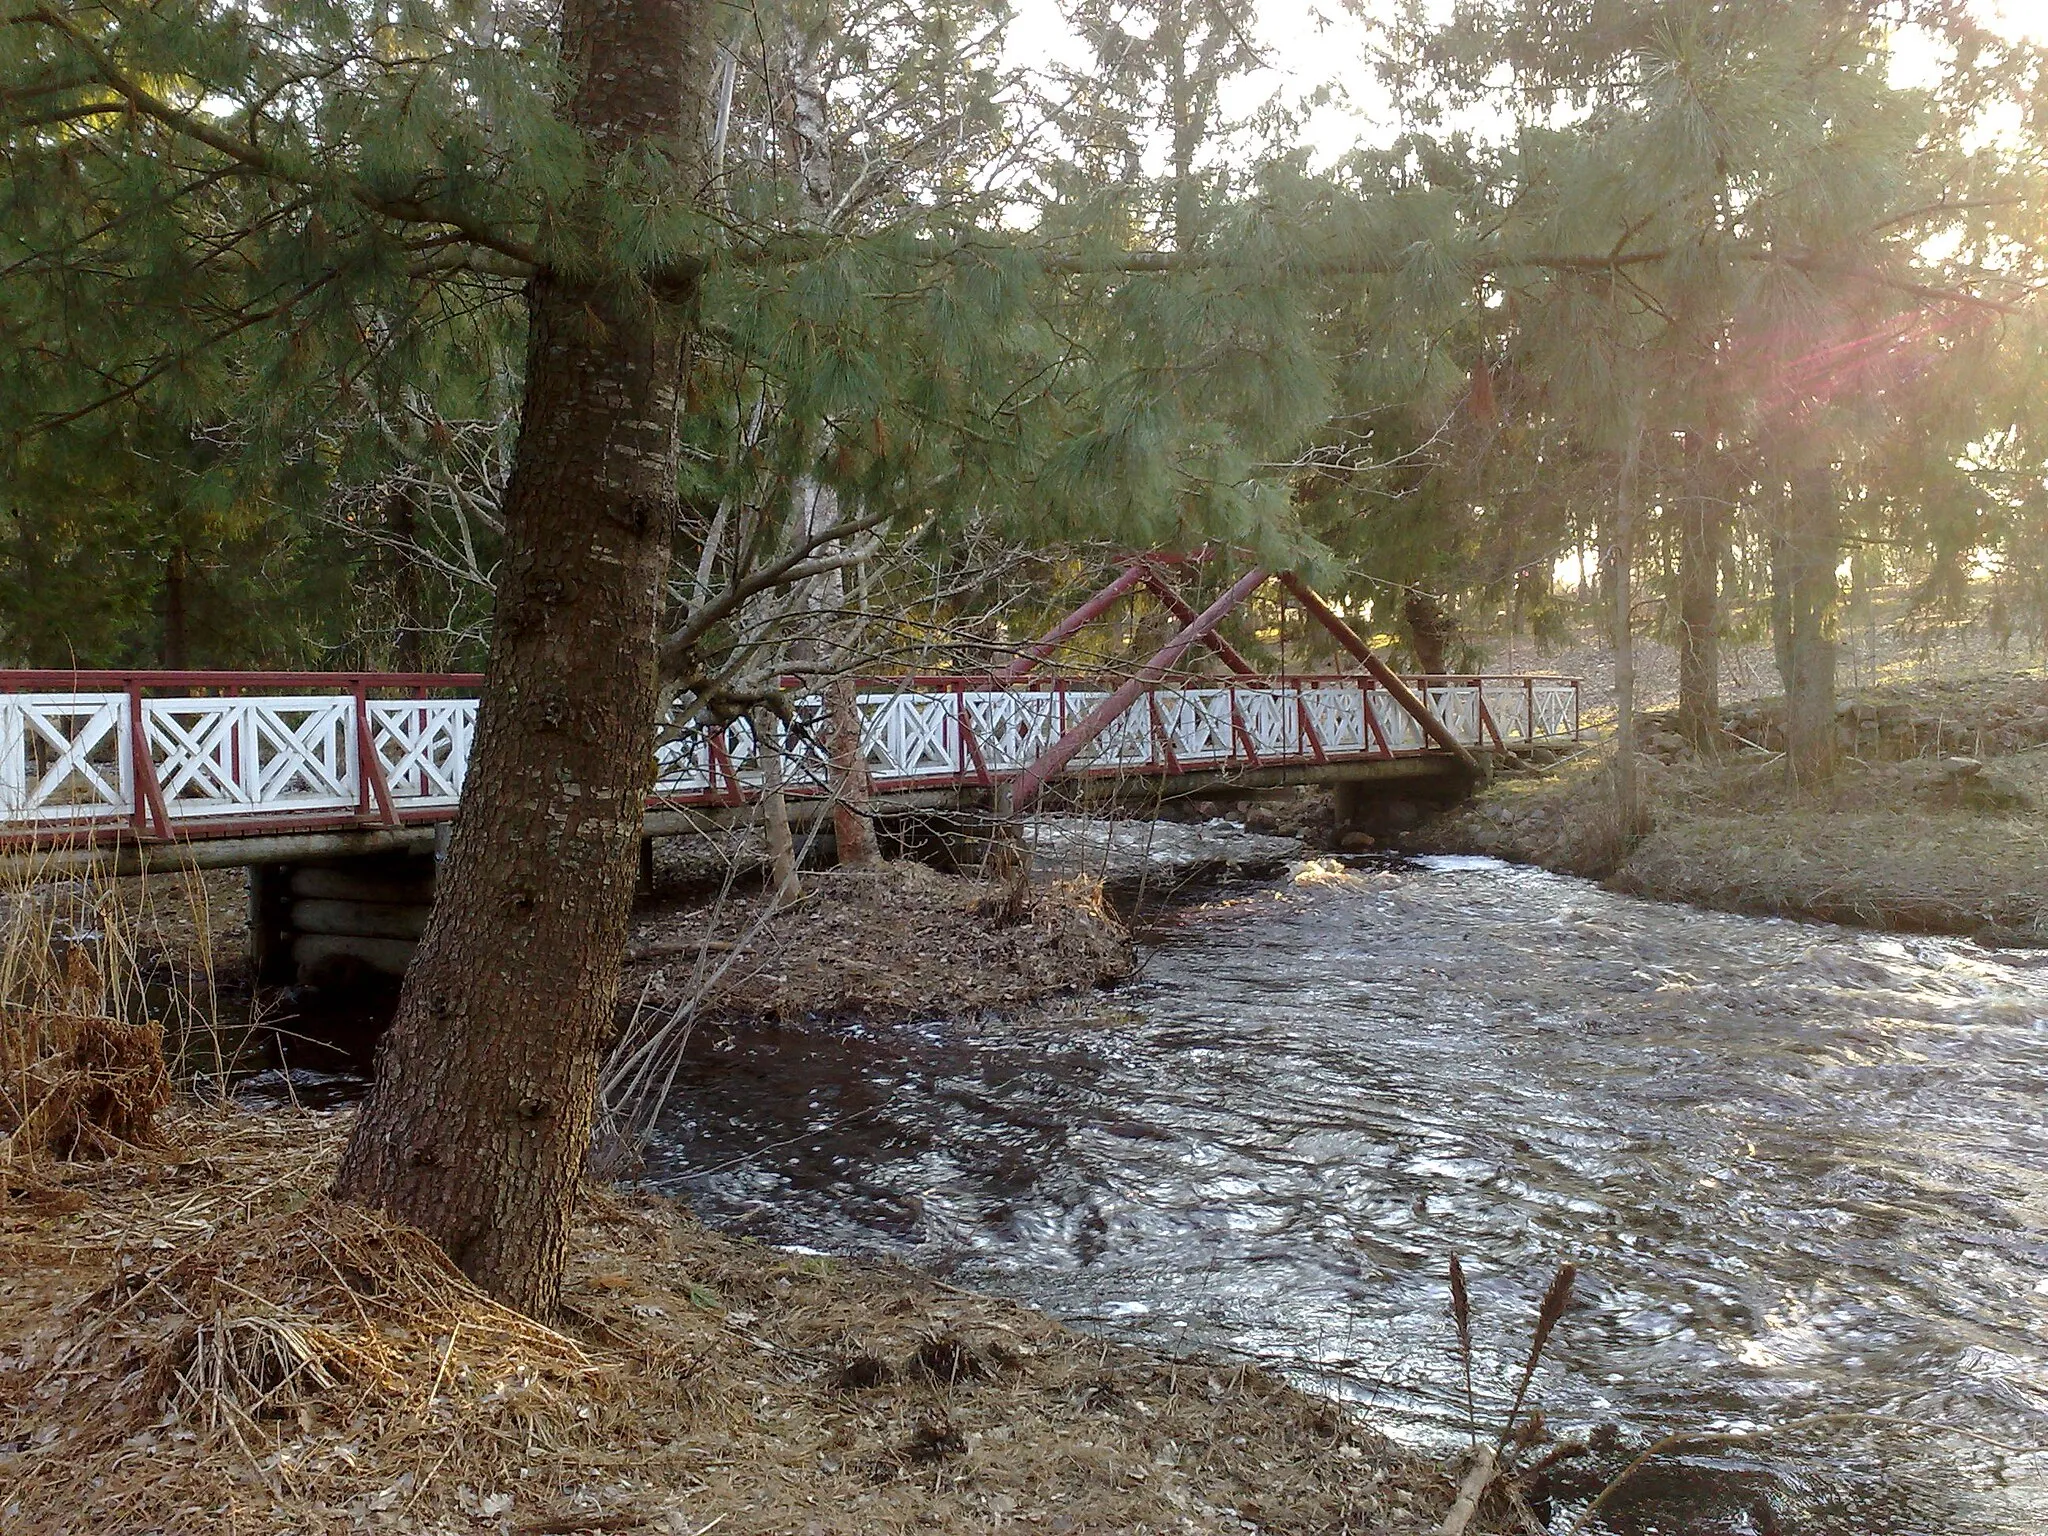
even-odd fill
[{"label": "all the trees above the bridge, including the thick foreground trunk", "polygon": [[528,1311],[657,721],[1221,545],[1427,672],[1604,623],[1626,823],[1642,629],[1702,745],[1767,631],[1804,780],[1845,596],[2048,635],[2044,57],[1968,0],[1360,4],[1343,154],[1237,106],[1247,0],[1042,68],[965,0],[6,20],[0,649],[487,664],[338,1188]]}]

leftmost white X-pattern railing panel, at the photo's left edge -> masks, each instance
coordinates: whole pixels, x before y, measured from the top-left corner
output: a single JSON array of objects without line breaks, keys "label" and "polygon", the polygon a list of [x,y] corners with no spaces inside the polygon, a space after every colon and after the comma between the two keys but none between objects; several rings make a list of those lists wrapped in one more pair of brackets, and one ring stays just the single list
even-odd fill
[{"label": "leftmost white X-pattern railing panel, at the photo's left edge", "polygon": [[123,694],[0,698],[0,819],[78,821],[135,803]]}]

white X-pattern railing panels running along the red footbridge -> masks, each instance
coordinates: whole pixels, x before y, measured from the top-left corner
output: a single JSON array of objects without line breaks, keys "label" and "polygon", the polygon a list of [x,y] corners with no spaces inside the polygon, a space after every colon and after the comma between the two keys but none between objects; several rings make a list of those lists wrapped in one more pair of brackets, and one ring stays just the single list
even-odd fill
[{"label": "white X-pattern railing panels running along the red footbridge", "polygon": [[[55,686],[70,684],[70,686]],[[133,829],[254,836],[453,813],[475,733],[475,678],[319,674],[0,674],[0,836]],[[1417,678],[1473,748],[1571,739],[1567,678]],[[160,696],[180,688],[176,696]],[[201,692],[205,690],[205,692]],[[401,696],[389,696],[401,694]],[[862,754],[879,793],[1010,778],[1110,688],[1028,678],[862,680]],[[821,793],[819,707],[780,727],[791,793]],[[655,797],[739,803],[762,778],[754,727],[674,733]],[[1180,774],[1430,752],[1370,678],[1159,684],[1092,737],[1067,774]]]}]

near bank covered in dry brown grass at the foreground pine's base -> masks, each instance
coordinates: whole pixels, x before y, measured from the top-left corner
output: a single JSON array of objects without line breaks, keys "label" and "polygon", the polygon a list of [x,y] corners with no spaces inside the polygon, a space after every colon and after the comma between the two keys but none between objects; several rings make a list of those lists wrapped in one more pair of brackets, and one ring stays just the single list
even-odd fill
[{"label": "near bank covered in dry brown grass at the foreground pine's base", "polygon": [[1440,1468],[1214,1362],[588,1192],[539,1327],[330,1204],[348,1114],[174,1110],[180,1151],[0,1214],[0,1528],[1421,1532]]}]

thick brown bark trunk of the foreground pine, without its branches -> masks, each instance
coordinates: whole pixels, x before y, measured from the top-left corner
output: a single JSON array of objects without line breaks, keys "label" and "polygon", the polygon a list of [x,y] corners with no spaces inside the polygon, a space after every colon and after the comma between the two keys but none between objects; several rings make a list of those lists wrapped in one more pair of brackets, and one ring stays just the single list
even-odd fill
[{"label": "thick brown bark trunk of the foreground pine, without its branches", "polygon": [[[705,0],[569,0],[600,160],[700,137]],[[653,776],[686,303],[537,276],[461,819],[336,1192],[528,1313],[561,1294]]]}]

